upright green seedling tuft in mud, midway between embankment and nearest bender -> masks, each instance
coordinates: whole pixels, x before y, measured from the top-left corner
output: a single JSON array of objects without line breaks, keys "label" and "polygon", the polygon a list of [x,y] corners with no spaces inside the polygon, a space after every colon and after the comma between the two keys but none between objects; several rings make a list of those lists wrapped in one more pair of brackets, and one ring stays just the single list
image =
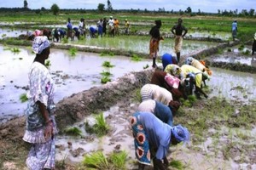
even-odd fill
[{"label": "upright green seedling tuft in mud, midway between embankment and nearest bender", "polygon": [[102,136],[108,133],[109,126],[103,116],[103,113],[96,116],[96,124],[93,125],[93,128],[94,128],[94,132],[99,136]]}]

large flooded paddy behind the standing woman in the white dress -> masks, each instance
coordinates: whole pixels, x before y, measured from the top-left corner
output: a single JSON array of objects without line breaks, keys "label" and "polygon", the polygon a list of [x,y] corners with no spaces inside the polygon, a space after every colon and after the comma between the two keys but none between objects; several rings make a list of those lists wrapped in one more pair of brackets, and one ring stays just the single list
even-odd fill
[{"label": "large flooded paddy behind the standing woman in the white dress", "polygon": [[[20,103],[20,94],[26,93],[29,66],[35,57],[30,48],[20,48],[14,54],[8,47],[0,46],[0,116],[4,121],[12,116],[22,116],[26,103]],[[9,47],[13,48],[13,47]],[[50,71],[55,80],[55,101],[93,86],[101,85],[102,71],[109,71],[111,80],[122,77],[131,71],[141,71],[151,64],[151,60],[140,62],[122,56],[100,56],[99,54],[80,53],[71,56],[66,50],[51,49]],[[109,61],[113,68],[102,66]]]}]

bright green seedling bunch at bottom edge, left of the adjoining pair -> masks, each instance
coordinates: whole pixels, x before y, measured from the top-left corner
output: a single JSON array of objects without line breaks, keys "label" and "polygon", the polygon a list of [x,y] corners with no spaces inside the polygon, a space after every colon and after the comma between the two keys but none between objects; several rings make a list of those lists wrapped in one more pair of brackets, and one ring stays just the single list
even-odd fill
[{"label": "bright green seedling bunch at bottom edge, left of the adjoining pair", "polygon": [[108,159],[102,151],[96,151],[84,156],[83,165],[90,169],[105,170],[109,169]]}]

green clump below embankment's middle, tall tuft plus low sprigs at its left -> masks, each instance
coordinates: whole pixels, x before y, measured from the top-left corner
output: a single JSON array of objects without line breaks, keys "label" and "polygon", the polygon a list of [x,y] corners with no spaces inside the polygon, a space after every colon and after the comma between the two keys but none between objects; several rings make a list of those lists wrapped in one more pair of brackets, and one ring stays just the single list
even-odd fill
[{"label": "green clump below embankment's middle, tall tuft plus low sprigs at its left", "polygon": [[98,136],[103,136],[108,133],[109,126],[106,122],[103,113],[95,117],[96,123],[90,126],[89,122],[85,122],[85,131],[87,133],[96,133]]}]

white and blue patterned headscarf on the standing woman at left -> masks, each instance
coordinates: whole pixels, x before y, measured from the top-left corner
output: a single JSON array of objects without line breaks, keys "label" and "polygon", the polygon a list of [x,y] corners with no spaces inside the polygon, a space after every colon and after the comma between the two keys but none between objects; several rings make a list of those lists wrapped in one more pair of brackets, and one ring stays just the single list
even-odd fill
[{"label": "white and blue patterned headscarf on the standing woman at left", "polygon": [[46,36],[35,37],[32,43],[32,50],[35,54],[41,54],[45,48],[49,47],[49,40]]}]

